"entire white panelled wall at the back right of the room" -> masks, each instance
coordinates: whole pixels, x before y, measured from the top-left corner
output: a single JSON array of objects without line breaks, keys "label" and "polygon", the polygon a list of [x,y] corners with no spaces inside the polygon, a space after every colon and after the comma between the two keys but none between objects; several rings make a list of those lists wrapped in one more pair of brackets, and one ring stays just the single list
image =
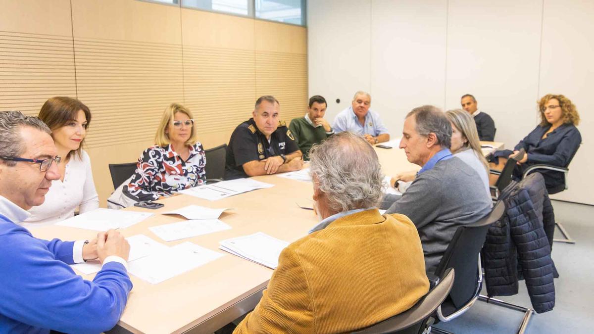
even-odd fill
[{"label": "entire white panelled wall at the back right of the room", "polygon": [[582,116],[583,145],[570,190],[555,198],[594,204],[592,17],[594,2],[579,0],[310,1],[309,95],[327,98],[332,121],[356,90],[369,90],[398,136],[415,106],[460,108],[471,93],[511,148],[538,124],[536,100],[563,93]]}]

